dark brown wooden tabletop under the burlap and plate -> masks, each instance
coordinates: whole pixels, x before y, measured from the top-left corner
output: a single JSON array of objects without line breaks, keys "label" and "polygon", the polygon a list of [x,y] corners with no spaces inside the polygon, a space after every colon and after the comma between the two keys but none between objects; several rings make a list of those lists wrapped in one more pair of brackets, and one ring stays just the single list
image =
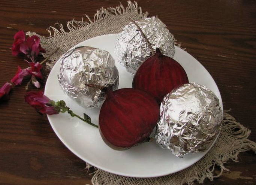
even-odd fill
[{"label": "dark brown wooden tabletop under the burlap and plate", "polygon": [[[125,0],[120,0],[126,5]],[[17,65],[11,55],[13,35],[20,29],[47,36],[54,23],[93,17],[114,0],[1,0],[0,86],[10,81]],[[199,60],[216,81],[224,109],[252,130],[256,141],[256,1],[255,0],[138,0],[142,10],[167,25],[187,52]],[[203,78],[203,77],[202,77]],[[24,84],[27,81],[24,82]],[[24,85],[15,87],[10,100],[0,104],[0,184],[91,184],[84,161],[57,138],[46,116],[24,102]],[[205,184],[256,184],[253,152],[243,152],[238,163]]]}]

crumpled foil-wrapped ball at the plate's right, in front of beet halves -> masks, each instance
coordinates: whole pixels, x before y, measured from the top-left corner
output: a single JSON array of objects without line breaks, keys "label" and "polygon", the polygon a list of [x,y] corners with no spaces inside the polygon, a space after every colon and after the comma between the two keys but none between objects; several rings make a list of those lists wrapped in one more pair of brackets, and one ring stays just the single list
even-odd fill
[{"label": "crumpled foil-wrapped ball at the plate's right, in front of beet halves", "polygon": [[163,98],[156,142],[180,158],[206,151],[219,134],[222,118],[212,91],[194,82],[184,84]]}]

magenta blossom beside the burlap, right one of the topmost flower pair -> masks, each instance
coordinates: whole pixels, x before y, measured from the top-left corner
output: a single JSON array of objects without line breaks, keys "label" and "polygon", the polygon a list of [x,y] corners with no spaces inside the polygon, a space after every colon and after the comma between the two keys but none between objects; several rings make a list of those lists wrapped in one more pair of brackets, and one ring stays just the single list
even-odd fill
[{"label": "magenta blossom beside the burlap, right one of the topmost flower pair", "polygon": [[28,37],[27,42],[21,43],[19,50],[28,58],[32,58],[33,61],[39,52],[45,53],[45,49],[40,45],[40,38],[35,35]]}]

